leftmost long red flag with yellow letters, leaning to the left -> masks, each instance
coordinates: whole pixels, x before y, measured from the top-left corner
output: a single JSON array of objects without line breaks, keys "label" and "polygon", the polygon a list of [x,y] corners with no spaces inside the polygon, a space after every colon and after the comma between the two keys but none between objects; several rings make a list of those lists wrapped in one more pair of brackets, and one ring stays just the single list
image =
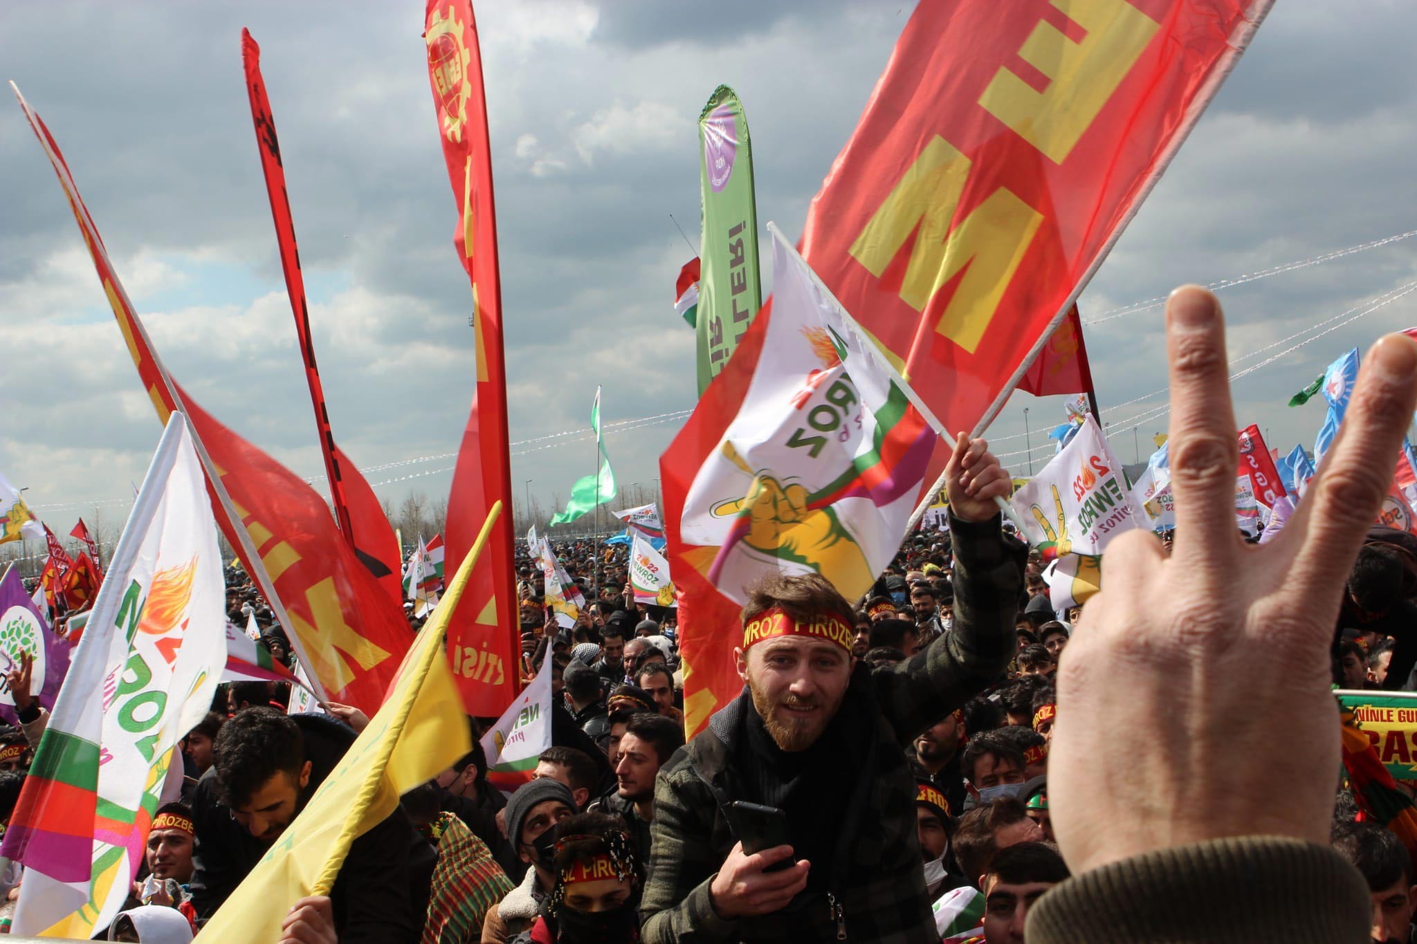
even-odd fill
[{"label": "leftmost long red flag with yellow letters, leaning to the left", "polygon": [[402,609],[354,556],[313,488],[214,420],[171,379],[113,272],[58,144],[23,96],[20,105],[69,200],[159,420],[166,425],[176,409],[187,415],[217,524],[289,633],[320,695],[371,715],[412,643]]}]

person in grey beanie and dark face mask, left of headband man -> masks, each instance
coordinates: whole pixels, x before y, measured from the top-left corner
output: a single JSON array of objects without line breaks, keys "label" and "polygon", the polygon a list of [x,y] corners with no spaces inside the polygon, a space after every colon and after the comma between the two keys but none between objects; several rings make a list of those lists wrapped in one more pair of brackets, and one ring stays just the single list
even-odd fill
[{"label": "person in grey beanie and dark face mask, left of headband man", "polygon": [[521,885],[492,906],[482,923],[482,944],[502,944],[526,931],[555,887],[554,834],[551,829],[575,815],[575,797],[560,780],[538,777],[517,787],[507,800],[507,838],[529,866]]}]

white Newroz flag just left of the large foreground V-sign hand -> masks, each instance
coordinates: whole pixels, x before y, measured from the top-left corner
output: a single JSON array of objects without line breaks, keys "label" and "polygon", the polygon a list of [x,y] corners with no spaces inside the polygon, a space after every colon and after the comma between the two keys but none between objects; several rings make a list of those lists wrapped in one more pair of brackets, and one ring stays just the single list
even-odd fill
[{"label": "white Newroz flag just left of the large foreground V-sign hand", "polygon": [[1058,556],[1102,553],[1112,538],[1146,521],[1132,505],[1122,464],[1091,415],[1009,504],[1034,532],[1032,543],[1056,543]]}]

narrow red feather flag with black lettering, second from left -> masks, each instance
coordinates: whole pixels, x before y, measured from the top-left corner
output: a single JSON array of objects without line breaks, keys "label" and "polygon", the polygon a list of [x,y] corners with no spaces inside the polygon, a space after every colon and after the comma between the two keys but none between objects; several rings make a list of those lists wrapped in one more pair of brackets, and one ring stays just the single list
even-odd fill
[{"label": "narrow red feather flag with black lettering, second from left", "polygon": [[247,95],[251,99],[251,120],[256,129],[256,150],[261,153],[261,171],[265,174],[266,195],[271,198],[271,217],[275,219],[276,243],[281,248],[281,269],[285,273],[286,294],[290,296],[290,313],[295,316],[295,334],[300,341],[300,359],[305,361],[305,379],[310,388],[310,403],[315,406],[315,426],[320,439],[320,454],[324,457],[324,476],[330,483],[330,500],[334,518],[340,522],[340,534],[378,580],[384,592],[402,607],[404,594],[398,580],[400,553],[394,526],[388,524],[374,490],[360,474],[354,463],[334,444],[330,430],[330,412],[324,405],[324,386],[320,384],[320,368],[315,364],[315,341],[310,337],[310,309],[305,300],[305,275],[300,272],[300,252],[295,243],[295,221],[290,218],[290,200],[285,188],[285,164],[281,160],[281,142],[275,133],[275,117],[261,76],[261,47],[248,30],[241,31],[241,61],[247,69]]}]

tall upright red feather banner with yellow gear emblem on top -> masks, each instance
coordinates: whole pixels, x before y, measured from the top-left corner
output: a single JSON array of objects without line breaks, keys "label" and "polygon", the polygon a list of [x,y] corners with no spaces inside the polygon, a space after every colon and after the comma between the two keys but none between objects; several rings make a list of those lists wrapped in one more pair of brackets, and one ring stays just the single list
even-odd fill
[{"label": "tall upright red feather banner with yellow gear emblem on top", "polygon": [[[469,0],[429,0],[424,14],[428,82],[448,180],[458,201],[453,245],[472,280],[478,385],[448,494],[446,573],[458,570],[497,501],[512,507],[507,453],[507,381],[502,352],[502,282],[492,201],[492,147],[482,88],[482,51]],[[497,716],[517,691],[516,572],[512,515],[502,515],[486,556],[468,582],[466,599],[448,623],[448,658],[469,715]]]}]

